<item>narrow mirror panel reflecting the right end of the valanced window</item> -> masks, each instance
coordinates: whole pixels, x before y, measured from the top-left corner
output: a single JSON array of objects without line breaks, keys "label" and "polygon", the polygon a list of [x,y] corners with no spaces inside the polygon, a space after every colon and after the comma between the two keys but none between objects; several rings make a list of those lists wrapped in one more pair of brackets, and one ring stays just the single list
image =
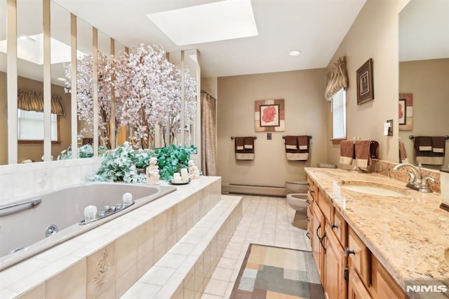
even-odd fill
[{"label": "narrow mirror panel reflecting the right end of the valanced window", "polygon": [[[69,149],[71,138],[71,97],[70,93],[65,91],[66,88],[66,68],[69,68],[72,61],[72,53],[70,48],[70,13],[62,6],[51,1],[51,95],[52,98],[60,100],[64,113],[58,115],[57,126],[52,126],[51,154],[54,159],[60,157],[63,150]],[[53,100],[52,99],[52,100]],[[53,131],[56,128],[56,132]],[[54,136],[55,135],[55,136]]]}]

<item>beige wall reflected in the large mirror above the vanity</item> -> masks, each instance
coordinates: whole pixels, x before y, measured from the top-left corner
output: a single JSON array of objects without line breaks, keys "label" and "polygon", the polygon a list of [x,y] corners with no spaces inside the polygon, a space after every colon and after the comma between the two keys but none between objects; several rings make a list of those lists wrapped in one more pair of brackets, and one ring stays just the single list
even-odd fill
[{"label": "beige wall reflected in the large mirror above the vanity", "polygon": [[[415,164],[413,140],[409,135],[449,135],[449,59],[418,60],[399,64],[399,92],[413,93],[413,130],[399,131],[408,154]],[[445,164],[449,163],[446,148]],[[441,166],[426,165],[440,169]]]}]

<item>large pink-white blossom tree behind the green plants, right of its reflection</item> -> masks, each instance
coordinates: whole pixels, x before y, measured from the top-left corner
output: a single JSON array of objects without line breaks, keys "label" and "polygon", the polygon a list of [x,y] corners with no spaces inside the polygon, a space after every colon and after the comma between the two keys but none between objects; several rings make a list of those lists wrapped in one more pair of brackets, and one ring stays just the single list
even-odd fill
[{"label": "large pink-white blossom tree behind the green plants, right of its reflection", "polygon": [[[115,62],[116,117],[118,125],[128,125],[129,139],[142,148],[152,147],[156,128],[165,145],[180,133],[181,70],[166,59],[159,46],[132,49]],[[195,81],[185,72],[185,124],[192,124],[196,109]]]}]

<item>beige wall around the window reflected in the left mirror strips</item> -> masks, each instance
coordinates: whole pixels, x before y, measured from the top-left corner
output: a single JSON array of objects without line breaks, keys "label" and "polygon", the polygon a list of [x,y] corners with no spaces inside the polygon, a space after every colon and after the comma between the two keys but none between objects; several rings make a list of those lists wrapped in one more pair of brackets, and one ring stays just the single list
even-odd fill
[{"label": "beige wall around the window reflected in the left mirror strips", "polygon": [[[4,88],[3,88],[4,86]],[[32,79],[27,79],[23,77],[18,77],[18,88],[25,89],[29,91],[39,91],[43,92],[43,84],[42,82],[35,81]],[[7,100],[6,100],[6,73],[0,72],[0,134],[4,136],[4,140],[6,140],[6,136],[8,134],[8,126],[7,126]],[[52,145],[51,154],[54,159],[58,157],[58,154],[62,150],[67,149],[70,144],[70,94],[65,93],[64,88],[61,86],[51,86],[52,95],[60,95],[62,97],[62,104],[65,107],[65,116],[60,116],[60,145]],[[7,142],[4,142],[6,145]],[[43,144],[19,144],[18,145],[18,161],[23,161],[25,159],[32,159],[34,161],[42,161],[41,157],[43,156]],[[8,163],[8,149],[6,146],[0,146],[0,164]]]}]

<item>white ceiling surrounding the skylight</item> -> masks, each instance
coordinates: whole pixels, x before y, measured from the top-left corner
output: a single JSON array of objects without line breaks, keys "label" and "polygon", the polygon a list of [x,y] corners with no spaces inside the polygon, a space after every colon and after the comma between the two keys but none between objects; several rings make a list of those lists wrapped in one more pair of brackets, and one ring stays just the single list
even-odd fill
[{"label": "white ceiling surrounding the skylight", "polygon": [[[199,49],[202,77],[326,67],[366,2],[252,0],[258,36],[176,46],[146,15],[216,0],[53,1],[128,47],[143,43],[161,45],[167,52]],[[288,55],[293,50],[301,55]]]}]

